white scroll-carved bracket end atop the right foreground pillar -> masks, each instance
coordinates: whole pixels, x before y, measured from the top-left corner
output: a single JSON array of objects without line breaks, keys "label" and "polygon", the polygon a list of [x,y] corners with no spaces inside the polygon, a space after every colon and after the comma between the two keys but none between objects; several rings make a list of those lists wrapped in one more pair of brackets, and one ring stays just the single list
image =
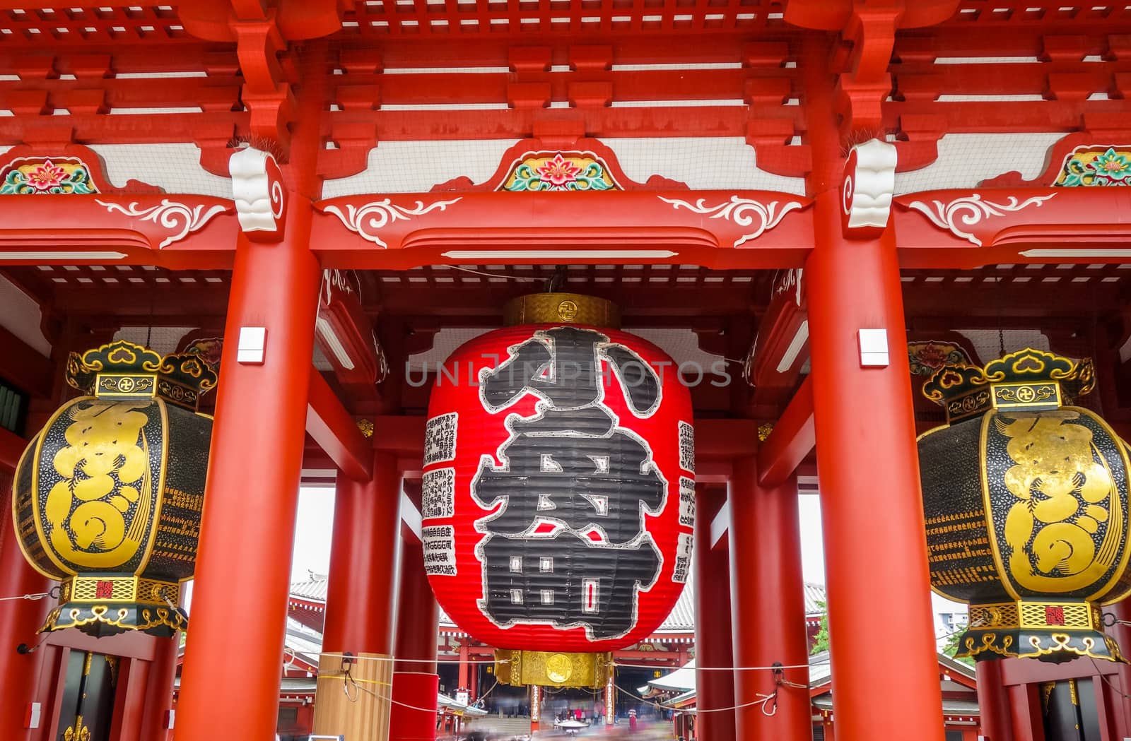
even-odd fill
[{"label": "white scroll-carved bracket end atop the right foreground pillar", "polygon": [[840,184],[840,226],[846,237],[874,237],[888,227],[897,159],[895,146],[879,139],[852,148]]}]

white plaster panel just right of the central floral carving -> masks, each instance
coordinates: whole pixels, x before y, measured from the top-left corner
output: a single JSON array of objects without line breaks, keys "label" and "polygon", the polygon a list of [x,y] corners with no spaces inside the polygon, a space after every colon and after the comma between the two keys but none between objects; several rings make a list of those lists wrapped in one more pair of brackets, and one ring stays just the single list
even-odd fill
[{"label": "white plaster panel just right of the central floral carving", "polygon": [[805,194],[803,177],[758,169],[754,148],[742,137],[656,137],[602,139],[637,182],[663,175],[692,190],[767,190]]}]

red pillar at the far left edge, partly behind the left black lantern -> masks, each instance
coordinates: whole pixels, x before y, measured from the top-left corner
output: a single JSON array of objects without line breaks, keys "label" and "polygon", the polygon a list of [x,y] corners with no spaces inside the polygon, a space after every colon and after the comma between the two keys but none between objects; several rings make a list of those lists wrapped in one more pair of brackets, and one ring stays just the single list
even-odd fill
[{"label": "red pillar at the far left edge, partly behind the left black lantern", "polygon": [[[16,542],[11,522],[11,476],[0,473],[0,596],[40,594],[50,582],[33,569]],[[53,602],[53,601],[52,601]],[[50,608],[48,600],[7,600],[0,602],[0,739],[25,739],[24,716],[36,699],[43,654],[20,654],[19,644],[35,646],[35,631]]]}]

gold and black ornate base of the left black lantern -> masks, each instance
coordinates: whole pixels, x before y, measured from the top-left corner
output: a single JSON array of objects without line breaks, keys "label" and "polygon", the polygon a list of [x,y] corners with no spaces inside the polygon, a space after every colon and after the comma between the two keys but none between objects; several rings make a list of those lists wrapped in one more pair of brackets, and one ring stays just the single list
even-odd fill
[{"label": "gold and black ornate base of the left black lantern", "polygon": [[40,633],[78,628],[98,637],[140,630],[167,638],[185,630],[189,618],[176,607],[181,585],[176,582],[132,574],[81,574],[59,585],[59,607],[49,614]]}]

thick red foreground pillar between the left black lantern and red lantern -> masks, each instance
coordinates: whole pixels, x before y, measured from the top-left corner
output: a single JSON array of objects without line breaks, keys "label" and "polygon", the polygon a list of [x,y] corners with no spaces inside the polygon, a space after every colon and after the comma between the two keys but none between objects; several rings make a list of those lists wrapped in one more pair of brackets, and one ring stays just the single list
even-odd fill
[{"label": "thick red foreground pillar between the left black lantern and red lantern", "polygon": [[[275,738],[321,278],[310,217],[310,201],[292,198],[283,242],[236,247],[179,741]],[[236,359],[244,326],[267,329],[261,364]]]}]

